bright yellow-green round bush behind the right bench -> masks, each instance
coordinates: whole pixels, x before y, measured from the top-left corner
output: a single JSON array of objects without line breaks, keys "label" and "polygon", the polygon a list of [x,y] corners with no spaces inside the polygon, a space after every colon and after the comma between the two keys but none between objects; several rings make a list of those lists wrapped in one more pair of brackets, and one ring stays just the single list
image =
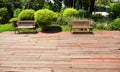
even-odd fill
[{"label": "bright yellow-green round bush behind the right bench", "polygon": [[77,16],[77,14],[78,12],[74,8],[67,8],[63,12],[63,16],[66,16],[66,17],[74,17],[74,16]]}]

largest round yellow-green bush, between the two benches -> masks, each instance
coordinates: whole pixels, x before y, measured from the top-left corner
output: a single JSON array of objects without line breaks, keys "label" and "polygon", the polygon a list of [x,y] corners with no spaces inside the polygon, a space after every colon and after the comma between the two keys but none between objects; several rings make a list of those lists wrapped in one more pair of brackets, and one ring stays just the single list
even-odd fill
[{"label": "largest round yellow-green bush, between the two benches", "polygon": [[57,14],[51,10],[42,9],[35,12],[34,18],[38,26],[46,27],[57,20]]}]

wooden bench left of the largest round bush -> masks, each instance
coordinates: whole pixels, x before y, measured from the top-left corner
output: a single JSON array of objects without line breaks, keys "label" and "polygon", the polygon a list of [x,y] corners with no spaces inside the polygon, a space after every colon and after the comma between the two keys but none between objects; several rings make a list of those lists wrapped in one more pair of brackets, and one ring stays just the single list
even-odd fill
[{"label": "wooden bench left of the largest round bush", "polygon": [[34,20],[19,20],[19,21],[17,21],[16,25],[15,25],[15,33],[16,33],[16,31],[20,32],[19,29],[21,29],[21,28],[29,28],[29,29],[31,28],[31,29],[35,29],[35,31],[37,32]]}]

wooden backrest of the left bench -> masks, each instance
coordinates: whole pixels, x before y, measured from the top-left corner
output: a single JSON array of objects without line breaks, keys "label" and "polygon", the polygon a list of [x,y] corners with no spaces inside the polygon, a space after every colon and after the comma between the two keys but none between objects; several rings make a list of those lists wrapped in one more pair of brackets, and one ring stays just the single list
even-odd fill
[{"label": "wooden backrest of the left bench", "polygon": [[35,26],[34,20],[17,21],[17,26]]}]

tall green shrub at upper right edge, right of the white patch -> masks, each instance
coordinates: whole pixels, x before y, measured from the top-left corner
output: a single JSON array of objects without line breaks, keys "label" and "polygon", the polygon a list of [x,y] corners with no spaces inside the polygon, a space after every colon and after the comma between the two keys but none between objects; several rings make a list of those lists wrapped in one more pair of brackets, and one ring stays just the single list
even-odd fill
[{"label": "tall green shrub at upper right edge, right of the white patch", "polygon": [[120,3],[111,3],[110,10],[112,11],[112,17],[120,17]]}]

